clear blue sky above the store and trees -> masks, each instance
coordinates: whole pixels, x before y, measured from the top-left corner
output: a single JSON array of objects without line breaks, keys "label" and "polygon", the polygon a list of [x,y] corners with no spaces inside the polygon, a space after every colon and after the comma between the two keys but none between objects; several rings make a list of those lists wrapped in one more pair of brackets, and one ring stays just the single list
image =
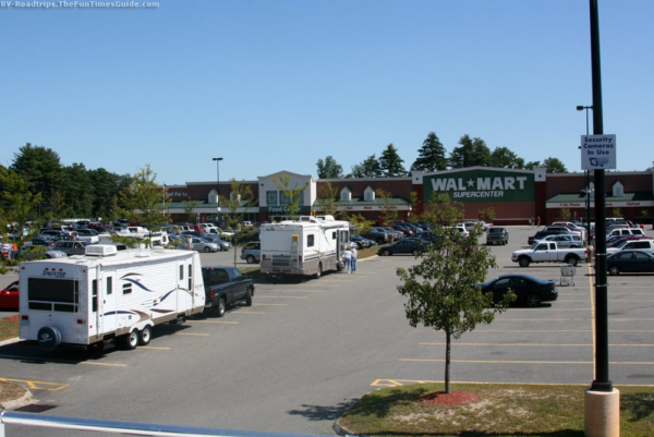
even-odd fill
[{"label": "clear blue sky above the store and trees", "polygon": [[[320,158],[347,173],[390,143],[409,169],[435,132],[448,153],[468,134],[581,171],[588,0],[12,3],[0,8],[4,166],[32,143],[66,166],[149,165],[168,185],[215,181],[213,157],[221,181],[316,177]],[[653,16],[652,0],[600,0],[604,133],[622,171],[654,160]]]}]

